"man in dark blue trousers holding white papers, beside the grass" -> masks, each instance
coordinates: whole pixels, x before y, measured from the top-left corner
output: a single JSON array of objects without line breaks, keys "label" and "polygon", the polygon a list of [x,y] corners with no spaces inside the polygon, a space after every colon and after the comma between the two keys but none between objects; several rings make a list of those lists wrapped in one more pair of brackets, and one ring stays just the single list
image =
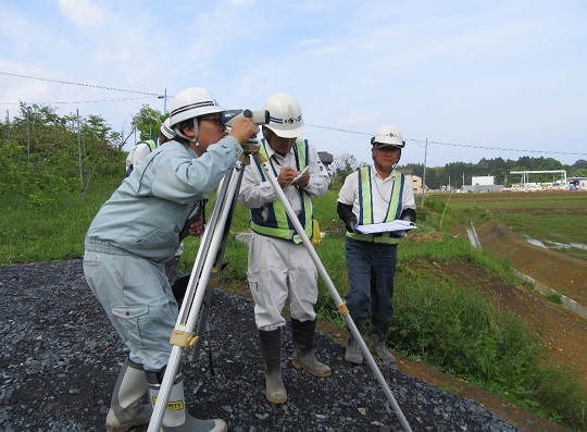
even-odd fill
[{"label": "man in dark blue trousers holding white papers, beside the grass", "polygon": [[[412,183],[395,170],[405,141],[394,125],[383,126],[371,138],[373,165],[349,174],[338,195],[337,213],[347,227],[345,255],[350,291],[345,300],[357,329],[363,334],[371,318],[370,350],[385,363],[396,358],[387,349],[387,333],[394,316],[391,297],[399,239],[405,232],[360,234],[355,225],[394,220],[415,222]],[[361,365],[363,354],[352,334],[345,359]]]}]

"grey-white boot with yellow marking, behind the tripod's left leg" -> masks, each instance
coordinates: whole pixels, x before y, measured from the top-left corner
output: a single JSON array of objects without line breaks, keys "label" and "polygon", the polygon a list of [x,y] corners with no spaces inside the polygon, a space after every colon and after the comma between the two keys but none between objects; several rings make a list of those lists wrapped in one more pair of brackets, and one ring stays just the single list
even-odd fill
[{"label": "grey-white boot with yellow marking, behind the tripod's left leg", "polygon": [[[149,399],[153,407],[161,390],[163,374],[163,371],[147,372]],[[226,432],[227,430],[224,420],[200,420],[189,415],[184,394],[184,380],[180,373],[175,377],[161,425],[163,432]]]}]

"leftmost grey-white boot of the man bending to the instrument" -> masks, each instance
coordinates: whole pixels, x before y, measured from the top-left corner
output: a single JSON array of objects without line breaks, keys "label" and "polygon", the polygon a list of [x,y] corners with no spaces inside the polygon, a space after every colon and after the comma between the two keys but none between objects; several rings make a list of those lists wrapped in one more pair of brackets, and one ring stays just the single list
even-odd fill
[{"label": "leftmost grey-white boot of the man bending to the instrument", "polygon": [[108,432],[126,432],[130,429],[147,424],[151,419],[150,405],[140,403],[147,393],[147,379],[141,365],[129,359],[123,363],[108,411],[105,427]]}]

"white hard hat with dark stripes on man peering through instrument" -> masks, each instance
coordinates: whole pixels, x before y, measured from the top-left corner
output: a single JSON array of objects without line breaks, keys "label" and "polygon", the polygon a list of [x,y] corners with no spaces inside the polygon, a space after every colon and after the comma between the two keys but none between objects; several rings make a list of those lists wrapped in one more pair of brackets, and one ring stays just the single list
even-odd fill
[{"label": "white hard hat with dark stripes on man peering through instrument", "polygon": [[174,128],[173,126],[184,120],[222,111],[216,99],[207,88],[189,87],[179,91],[173,99],[170,112],[170,127]]}]

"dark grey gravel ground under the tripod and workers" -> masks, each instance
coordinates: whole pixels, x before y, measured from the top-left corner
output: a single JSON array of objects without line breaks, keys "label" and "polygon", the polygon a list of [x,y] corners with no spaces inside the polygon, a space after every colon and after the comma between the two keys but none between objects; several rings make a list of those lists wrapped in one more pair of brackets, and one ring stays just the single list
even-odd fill
[{"label": "dark grey gravel ground under the tripod and workers", "polygon": [[[0,268],[0,431],[103,431],[112,387],[126,358],[84,280],[80,260]],[[190,411],[223,418],[233,432],[402,431],[366,363],[350,366],[322,333],[316,356],[333,369],[317,379],[291,368],[284,332],[287,404],[264,397],[253,305],[216,291],[208,347],[183,371]],[[482,406],[380,366],[415,431],[521,431]],[[137,428],[137,432],[147,428]]]}]

